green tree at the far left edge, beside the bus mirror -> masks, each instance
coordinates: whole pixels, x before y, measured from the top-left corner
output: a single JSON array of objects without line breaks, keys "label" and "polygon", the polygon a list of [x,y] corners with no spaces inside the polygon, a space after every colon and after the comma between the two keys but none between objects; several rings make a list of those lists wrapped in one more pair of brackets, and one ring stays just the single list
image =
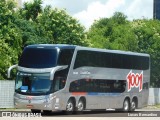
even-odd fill
[{"label": "green tree at the far left edge, beside the bus mirror", "polygon": [[9,66],[17,62],[21,52],[21,34],[13,23],[15,4],[12,0],[0,2],[0,79],[6,79]]}]

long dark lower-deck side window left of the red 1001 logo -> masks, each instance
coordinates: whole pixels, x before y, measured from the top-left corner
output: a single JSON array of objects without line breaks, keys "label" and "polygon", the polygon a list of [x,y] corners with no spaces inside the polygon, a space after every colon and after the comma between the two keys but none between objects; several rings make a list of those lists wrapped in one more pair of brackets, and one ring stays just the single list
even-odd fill
[{"label": "long dark lower-deck side window left of the red 1001 logo", "polygon": [[70,92],[122,93],[126,88],[126,80],[81,79],[70,84]]}]

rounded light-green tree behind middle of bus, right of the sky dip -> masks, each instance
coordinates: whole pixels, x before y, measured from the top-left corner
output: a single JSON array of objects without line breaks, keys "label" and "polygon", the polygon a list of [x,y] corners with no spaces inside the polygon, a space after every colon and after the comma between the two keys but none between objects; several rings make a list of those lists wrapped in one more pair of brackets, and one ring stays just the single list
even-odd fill
[{"label": "rounded light-green tree behind middle of bus, right of the sky dip", "polygon": [[116,12],[111,18],[102,18],[88,32],[90,46],[106,49],[137,50],[137,39],[127,17]]}]

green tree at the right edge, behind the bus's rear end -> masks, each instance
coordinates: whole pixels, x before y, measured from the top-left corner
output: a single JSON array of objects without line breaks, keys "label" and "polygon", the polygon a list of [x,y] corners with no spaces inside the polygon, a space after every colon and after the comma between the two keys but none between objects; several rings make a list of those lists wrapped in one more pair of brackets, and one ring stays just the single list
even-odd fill
[{"label": "green tree at the right edge, behind the bus's rear end", "polygon": [[160,21],[135,20],[132,22],[132,29],[138,40],[137,52],[151,56],[151,86],[160,87]]}]

